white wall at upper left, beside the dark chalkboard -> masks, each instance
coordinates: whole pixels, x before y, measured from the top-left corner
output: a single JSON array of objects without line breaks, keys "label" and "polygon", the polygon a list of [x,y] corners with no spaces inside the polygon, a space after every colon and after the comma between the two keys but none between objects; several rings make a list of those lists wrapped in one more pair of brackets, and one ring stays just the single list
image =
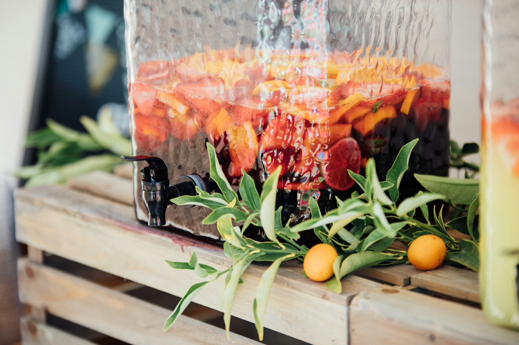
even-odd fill
[{"label": "white wall at upper left, beside the dark chalkboard", "polygon": [[0,174],[22,163],[47,0],[0,0]]}]

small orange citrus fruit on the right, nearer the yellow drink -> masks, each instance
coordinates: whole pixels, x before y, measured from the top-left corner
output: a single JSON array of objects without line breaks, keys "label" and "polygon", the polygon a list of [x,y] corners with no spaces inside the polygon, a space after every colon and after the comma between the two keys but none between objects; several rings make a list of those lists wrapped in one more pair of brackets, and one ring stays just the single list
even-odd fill
[{"label": "small orange citrus fruit on the right, nearer the yellow drink", "polygon": [[446,254],[445,242],[436,235],[418,237],[411,242],[411,246],[407,250],[409,262],[422,271],[440,266]]}]

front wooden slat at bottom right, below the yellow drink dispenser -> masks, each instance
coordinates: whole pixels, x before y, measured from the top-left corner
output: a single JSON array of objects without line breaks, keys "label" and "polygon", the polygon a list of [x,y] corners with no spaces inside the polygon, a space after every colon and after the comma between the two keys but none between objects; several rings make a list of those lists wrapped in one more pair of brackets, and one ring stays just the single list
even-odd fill
[{"label": "front wooden slat at bottom right, below the yellow drink dispenser", "polygon": [[350,344],[519,344],[479,309],[398,287],[361,292],[350,305]]}]

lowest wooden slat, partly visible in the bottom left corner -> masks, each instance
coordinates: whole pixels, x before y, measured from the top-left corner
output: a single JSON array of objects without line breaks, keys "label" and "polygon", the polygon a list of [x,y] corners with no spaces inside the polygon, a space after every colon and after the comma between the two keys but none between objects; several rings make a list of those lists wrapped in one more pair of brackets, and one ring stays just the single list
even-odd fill
[{"label": "lowest wooden slat, partly visible in the bottom left corner", "polygon": [[93,342],[63,332],[58,328],[39,323],[30,317],[20,319],[23,345],[93,345]]}]

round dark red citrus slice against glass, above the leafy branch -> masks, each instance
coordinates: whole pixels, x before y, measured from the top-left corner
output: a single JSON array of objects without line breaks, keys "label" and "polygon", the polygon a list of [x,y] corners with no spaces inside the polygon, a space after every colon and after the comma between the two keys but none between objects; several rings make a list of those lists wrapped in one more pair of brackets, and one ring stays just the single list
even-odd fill
[{"label": "round dark red citrus slice against glass, above the leafy branch", "polygon": [[359,174],[360,171],[359,144],[353,138],[340,139],[325,154],[321,163],[324,181],[331,188],[345,191],[355,181],[348,174],[348,169]]}]

